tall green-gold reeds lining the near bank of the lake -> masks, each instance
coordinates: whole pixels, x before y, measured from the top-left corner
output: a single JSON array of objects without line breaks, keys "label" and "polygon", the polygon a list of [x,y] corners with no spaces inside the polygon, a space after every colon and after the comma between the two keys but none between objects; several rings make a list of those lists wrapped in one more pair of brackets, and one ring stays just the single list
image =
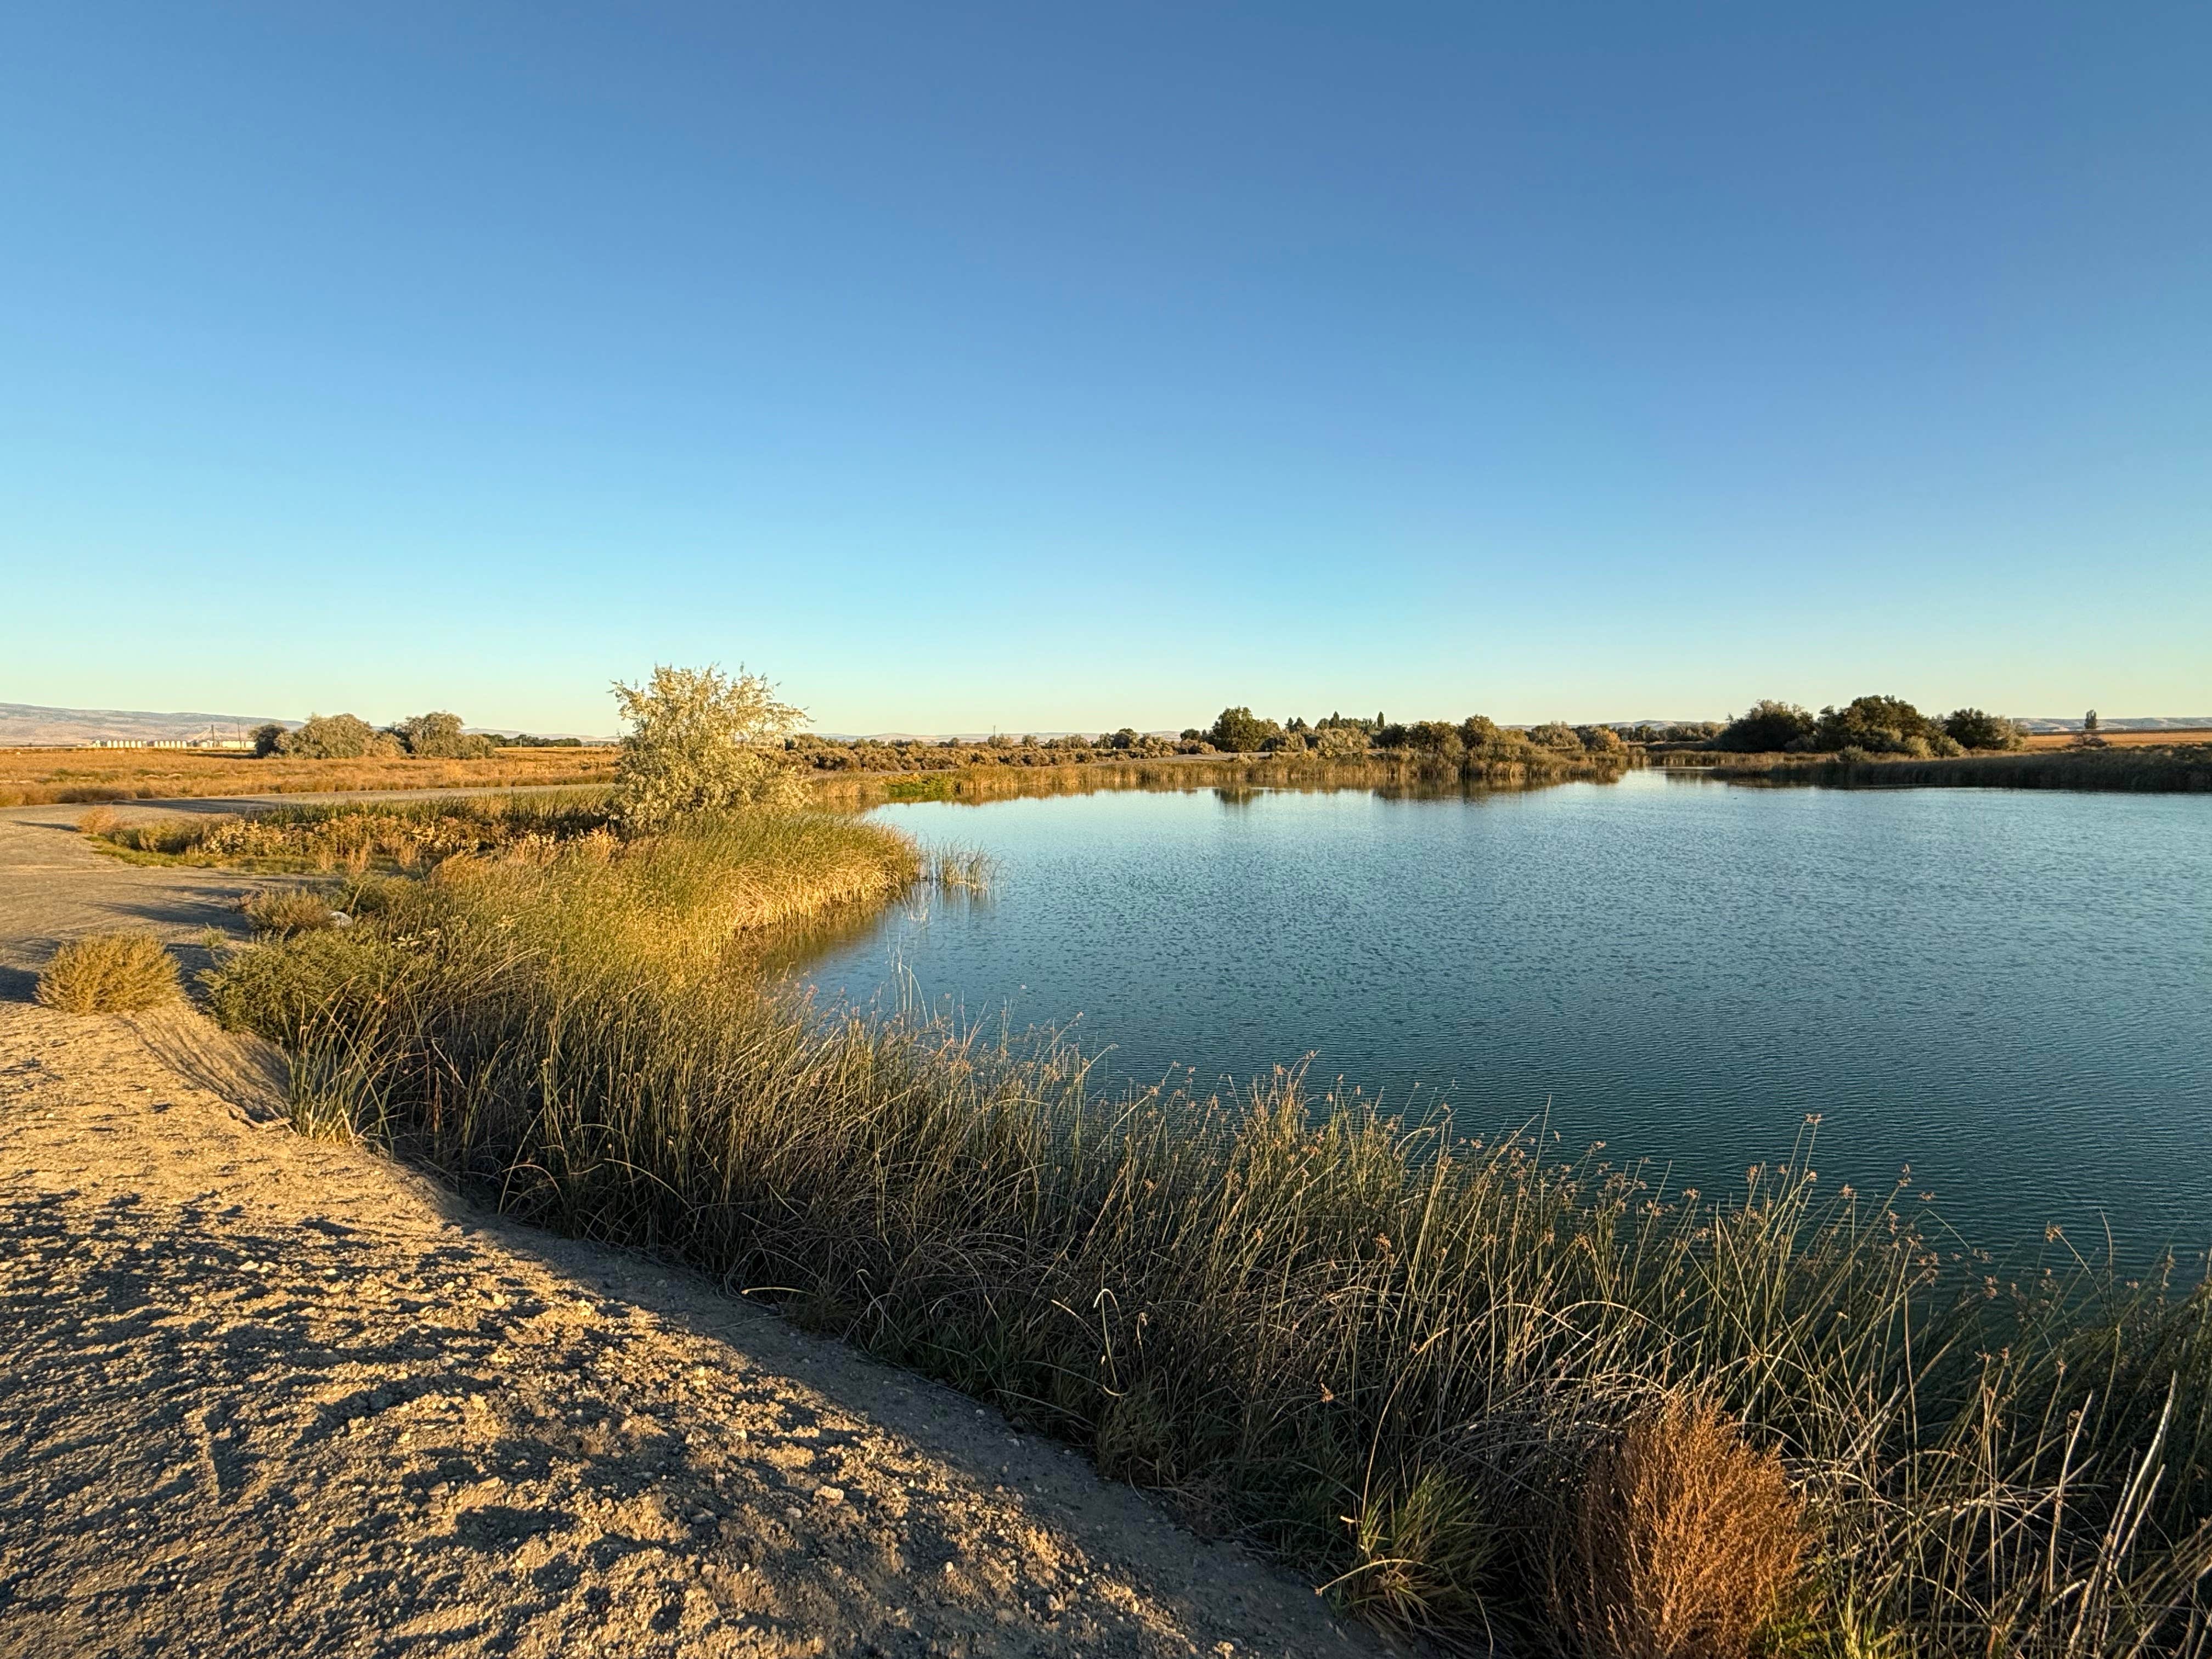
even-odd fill
[{"label": "tall green-gold reeds lining the near bank of the lake", "polygon": [[774,1298],[1444,1644],[1606,1652],[1593,1504],[1690,1400],[1803,1504],[1767,1650],[2208,1652],[2205,1292],[2064,1241],[2002,1270],[1825,1192],[1809,1130],[1663,1192],[1296,1073],[1102,1099],[1071,1048],[768,995],[712,902],[867,830],[825,823],[372,883],[212,1000],[323,1126]]}]

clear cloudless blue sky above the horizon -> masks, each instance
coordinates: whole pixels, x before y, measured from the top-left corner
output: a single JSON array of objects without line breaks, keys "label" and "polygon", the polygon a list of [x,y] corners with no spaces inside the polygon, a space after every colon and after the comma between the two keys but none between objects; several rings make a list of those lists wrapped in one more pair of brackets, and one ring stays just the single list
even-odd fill
[{"label": "clear cloudless blue sky above the horizon", "polygon": [[0,699],[2212,712],[2212,7],[0,15]]}]

